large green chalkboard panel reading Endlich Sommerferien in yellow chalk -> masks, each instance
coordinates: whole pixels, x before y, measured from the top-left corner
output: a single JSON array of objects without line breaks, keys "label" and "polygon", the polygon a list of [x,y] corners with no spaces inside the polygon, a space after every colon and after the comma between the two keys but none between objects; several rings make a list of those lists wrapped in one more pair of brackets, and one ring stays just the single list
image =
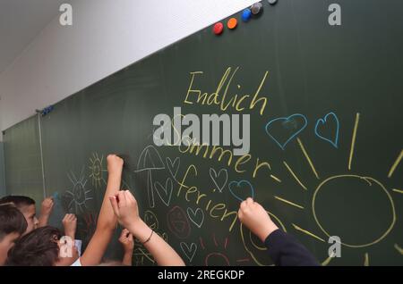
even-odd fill
[{"label": "large green chalkboard panel reading Endlich Sommerferien in yellow chalk", "polygon": [[[263,1],[248,22],[234,15],[236,29],[202,29],[56,104],[41,119],[47,195],[80,215],[88,239],[106,155],[118,153],[123,187],[188,265],[271,264],[236,221],[251,195],[323,264],[403,264],[403,3],[339,0],[341,25],[330,26],[331,3]],[[198,103],[198,91],[229,106]],[[174,107],[249,114],[249,154],[155,146],[154,117]],[[329,236],[340,258],[329,258]],[[141,246],[133,259],[154,264]]]}]

